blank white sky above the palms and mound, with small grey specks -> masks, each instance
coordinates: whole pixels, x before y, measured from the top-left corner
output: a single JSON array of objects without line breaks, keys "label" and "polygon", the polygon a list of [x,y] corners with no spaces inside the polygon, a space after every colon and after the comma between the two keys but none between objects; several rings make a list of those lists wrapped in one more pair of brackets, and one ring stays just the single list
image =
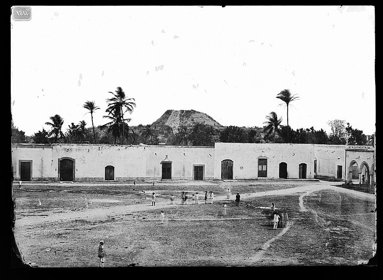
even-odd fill
[{"label": "blank white sky above the palms and mound, with small grey specks", "polygon": [[223,126],[262,127],[277,94],[299,99],[292,129],[331,130],[340,119],[375,132],[373,6],[30,6],[11,22],[11,113],[25,135],[63,131],[104,115],[121,86],[136,108],[129,125],[168,109],[204,112]]}]

